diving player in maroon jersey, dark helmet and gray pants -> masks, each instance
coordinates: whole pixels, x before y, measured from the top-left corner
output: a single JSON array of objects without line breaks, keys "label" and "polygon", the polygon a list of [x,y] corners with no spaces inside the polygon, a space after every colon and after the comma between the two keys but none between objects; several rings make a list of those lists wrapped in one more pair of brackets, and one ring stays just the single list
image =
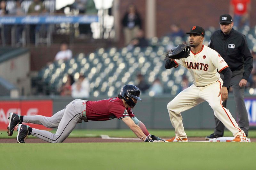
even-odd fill
[{"label": "diving player in maroon jersey, dark helmet and gray pants", "polygon": [[[17,141],[25,143],[28,135],[43,139],[50,143],[63,142],[77,123],[84,121],[107,121],[114,118],[121,119],[144,142],[164,142],[159,137],[150,135],[145,125],[132,113],[132,108],[140,99],[140,90],[134,85],[124,85],[120,94],[115,98],[98,101],[76,99],[71,101],[66,108],[60,110],[52,117],[41,115],[20,116],[10,113],[8,135],[12,136],[13,129],[18,124]],[[47,128],[58,127],[56,133],[46,130],[30,128],[22,122],[44,125]]]}]

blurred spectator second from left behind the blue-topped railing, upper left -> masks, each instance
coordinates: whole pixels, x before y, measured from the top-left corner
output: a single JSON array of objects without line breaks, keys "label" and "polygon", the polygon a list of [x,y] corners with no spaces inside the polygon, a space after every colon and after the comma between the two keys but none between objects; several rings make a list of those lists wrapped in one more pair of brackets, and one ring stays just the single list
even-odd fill
[{"label": "blurred spectator second from left behind the blue-topped railing, upper left", "polygon": [[[16,1],[16,6],[12,8],[9,11],[9,15],[13,16],[22,16],[25,15],[25,11],[20,5],[20,1]],[[21,45],[21,40],[22,40],[22,31],[23,31],[24,26],[23,25],[16,25],[16,30],[15,30],[15,42],[17,43],[18,46]]]}]

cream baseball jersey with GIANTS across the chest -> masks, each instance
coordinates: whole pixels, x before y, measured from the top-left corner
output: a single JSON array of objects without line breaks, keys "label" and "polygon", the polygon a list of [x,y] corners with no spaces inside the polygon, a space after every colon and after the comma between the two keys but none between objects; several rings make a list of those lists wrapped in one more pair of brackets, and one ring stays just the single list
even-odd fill
[{"label": "cream baseball jersey with GIANTS across the chest", "polygon": [[175,59],[175,67],[179,64],[186,67],[197,87],[206,86],[219,80],[220,74],[217,69],[222,71],[228,67],[228,64],[220,54],[212,48],[203,45],[198,53],[190,51],[187,58]]}]

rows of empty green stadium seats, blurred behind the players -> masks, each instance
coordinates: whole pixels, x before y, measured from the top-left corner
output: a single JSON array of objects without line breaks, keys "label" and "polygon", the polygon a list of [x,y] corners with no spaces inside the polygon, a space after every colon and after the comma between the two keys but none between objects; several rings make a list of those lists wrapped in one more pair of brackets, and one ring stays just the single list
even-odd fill
[{"label": "rows of empty green stadium seats, blurred behind the players", "polygon": [[[208,45],[213,31],[215,31],[213,27],[205,30],[205,45]],[[250,49],[256,52],[256,26],[249,30],[243,28],[243,31],[247,32],[246,38]],[[75,79],[78,78],[79,73],[82,73],[90,81],[92,96],[111,97],[119,93],[124,84],[135,84],[137,74],[140,73],[149,85],[159,78],[163,84],[164,93],[176,95],[182,90],[182,77],[186,75],[191,84],[192,78],[184,67],[166,70],[164,68],[165,53],[170,44],[175,46],[185,39],[187,37],[184,39],[176,37],[170,41],[169,37],[163,36],[158,41],[158,38],[154,37],[149,40],[149,46],[144,48],[136,47],[130,51],[126,47],[99,48],[88,55],[80,53],[70,60],[59,60],[44,67],[38,72],[38,79],[41,79],[40,83],[45,86],[45,91],[53,93],[54,89],[58,89],[63,84],[68,73]]]}]

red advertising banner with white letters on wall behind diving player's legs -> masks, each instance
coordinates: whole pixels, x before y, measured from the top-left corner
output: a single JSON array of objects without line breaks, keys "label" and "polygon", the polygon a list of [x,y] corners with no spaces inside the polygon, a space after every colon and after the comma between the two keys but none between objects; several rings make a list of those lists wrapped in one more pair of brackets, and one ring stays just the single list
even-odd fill
[{"label": "red advertising banner with white letters on wall behind diving player's legs", "polygon": [[[52,116],[52,100],[15,100],[15,101],[0,101],[0,130],[6,130],[9,124],[9,113],[13,112],[19,115],[43,115]],[[23,123],[36,129],[45,129],[42,125],[32,123]]]}]

